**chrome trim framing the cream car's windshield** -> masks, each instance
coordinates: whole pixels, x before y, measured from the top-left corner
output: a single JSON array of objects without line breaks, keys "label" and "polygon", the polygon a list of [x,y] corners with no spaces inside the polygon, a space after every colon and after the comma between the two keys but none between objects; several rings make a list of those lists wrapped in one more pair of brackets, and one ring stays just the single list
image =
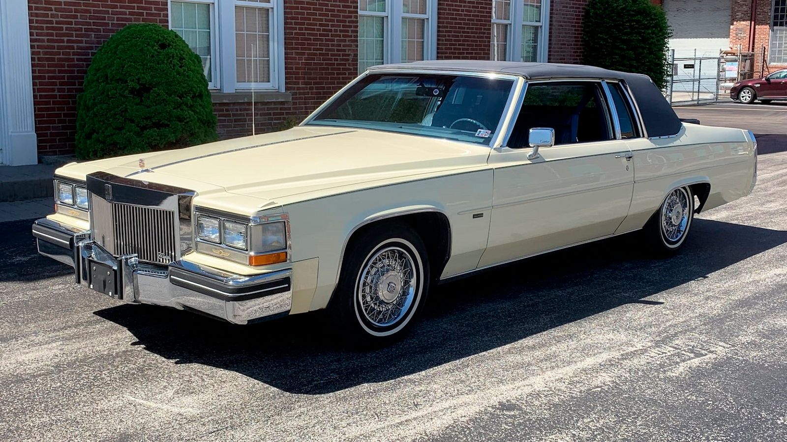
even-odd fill
[{"label": "chrome trim framing the cream car's windshield", "polygon": [[[475,77],[475,78],[488,78],[488,79],[504,79],[508,81],[512,81],[511,90],[508,91],[508,100],[506,101],[503,112],[501,113],[500,121],[497,122],[497,127],[494,132],[494,137],[487,143],[475,143],[475,142],[464,142],[470,145],[477,145],[477,146],[486,146],[490,149],[493,149],[496,146],[499,146],[503,140],[501,136],[501,132],[505,128],[505,123],[508,123],[508,117],[511,116],[512,112],[512,101],[515,100],[515,95],[521,83],[525,81],[527,77],[523,75],[516,74],[515,72],[511,73],[500,73],[500,72],[482,72],[482,71],[462,71],[462,70],[441,70],[441,69],[403,69],[403,68],[371,68],[357,76],[356,79],[351,81],[347,84],[347,86],[342,87],[336,94],[334,94],[331,98],[328,98],[319,108],[317,108],[314,112],[309,114],[299,124],[299,126],[306,126],[315,119],[316,116],[320,115],[320,112],[327,109],[331,103],[336,101],[342,94],[344,94],[347,90],[351,87],[355,86],[359,83],[362,79],[366,78],[370,75],[378,75],[378,74],[410,74],[410,75],[418,75],[418,74],[427,74],[427,75],[438,75],[438,76],[467,76],[467,77]],[[318,126],[319,123],[314,123],[313,125]],[[330,126],[330,127],[344,127],[344,126]],[[360,127],[345,127],[347,129],[360,129],[364,130]],[[375,131],[377,129],[365,129],[370,131]],[[407,134],[402,132],[396,132],[397,134],[405,134],[405,135],[412,135],[412,136],[424,136],[419,134]],[[439,137],[437,137],[439,138]],[[453,142],[463,142],[461,140],[451,140]]]}]

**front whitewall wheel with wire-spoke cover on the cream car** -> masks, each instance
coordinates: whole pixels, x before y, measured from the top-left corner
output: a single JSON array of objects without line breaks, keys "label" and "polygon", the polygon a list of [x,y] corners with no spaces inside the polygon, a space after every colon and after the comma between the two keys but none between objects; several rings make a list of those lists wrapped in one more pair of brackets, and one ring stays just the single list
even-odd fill
[{"label": "front whitewall wheel with wire-spoke cover on the cream car", "polygon": [[412,229],[389,224],[353,238],[331,302],[349,344],[379,346],[403,336],[429,289],[426,247]]}]

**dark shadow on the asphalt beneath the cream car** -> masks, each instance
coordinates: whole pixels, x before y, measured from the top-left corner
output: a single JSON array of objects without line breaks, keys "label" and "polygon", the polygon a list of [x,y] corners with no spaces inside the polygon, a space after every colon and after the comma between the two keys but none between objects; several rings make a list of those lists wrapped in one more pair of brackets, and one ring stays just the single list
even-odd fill
[{"label": "dark shadow on the asphalt beneath the cream car", "polygon": [[331,337],[324,314],[232,326],[183,311],[123,305],[96,311],[142,345],[176,363],[232,370],[285,392],[324,394],[390,381],[623,304],[708,278],[787,242],[787,232],[696,219],[686,248],[664,260],[640,251],[636,234],[565,249],[439,285],[422,320],[397,344],[368,352]]}]

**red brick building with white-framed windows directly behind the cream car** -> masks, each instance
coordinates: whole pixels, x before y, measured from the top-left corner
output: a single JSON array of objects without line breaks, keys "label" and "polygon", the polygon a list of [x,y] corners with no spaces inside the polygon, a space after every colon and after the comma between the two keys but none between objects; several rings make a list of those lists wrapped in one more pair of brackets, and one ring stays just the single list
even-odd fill
[{"label": "red brick building with white-framed windows directly behind the cream car", "polygon": [[[200,54],[222,138],[306,116],[371,64],[581,60],[586,0],[0,0],[0,164],[73,153],[99,46],[158,23]],[[551,4],[550,4],[551,3]],[[29,42],[28,42],[29,41]]]}]

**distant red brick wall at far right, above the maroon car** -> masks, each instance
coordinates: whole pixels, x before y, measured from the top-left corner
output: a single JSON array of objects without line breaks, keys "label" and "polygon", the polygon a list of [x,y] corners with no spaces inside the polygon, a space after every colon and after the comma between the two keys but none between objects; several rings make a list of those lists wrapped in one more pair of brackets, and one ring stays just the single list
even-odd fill
[{"label": "distant red brick wall at far right, above the maroon car", "polygon": [[[774,72],[785,68],[785,64],[768,63],[768,45],[770,44],[770,0],[757,0],[754,13],[754,41],[752,45],[752,0],[732,0],[732,20],[730,25],[730,47],[737,49],[741,45],[744,52],[755,53],[754,76],[759,73]],[[762,56],[763,46],[765,57]],[[764,63],[763,63],[764,61]]]}]

